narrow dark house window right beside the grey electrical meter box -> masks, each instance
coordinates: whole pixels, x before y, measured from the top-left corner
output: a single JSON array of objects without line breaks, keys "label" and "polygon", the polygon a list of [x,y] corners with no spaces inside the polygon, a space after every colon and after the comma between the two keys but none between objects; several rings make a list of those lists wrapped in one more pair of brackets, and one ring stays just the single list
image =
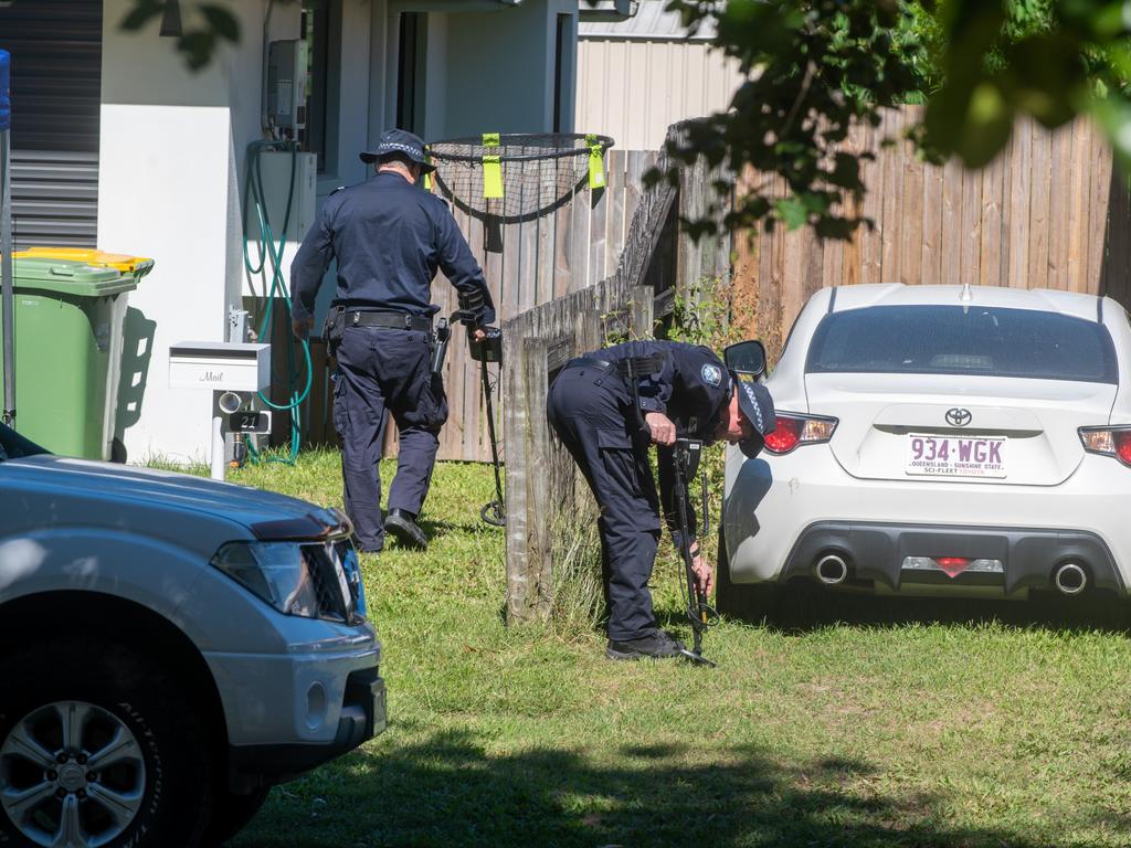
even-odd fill
[{"label": "narrow dark house window right beside the grey electrical meter box", "polygon": [[342,0],[303,0],[307,42],[307,128],[303,148],[318,155],[318,173],[337,171],[337,114]]}]

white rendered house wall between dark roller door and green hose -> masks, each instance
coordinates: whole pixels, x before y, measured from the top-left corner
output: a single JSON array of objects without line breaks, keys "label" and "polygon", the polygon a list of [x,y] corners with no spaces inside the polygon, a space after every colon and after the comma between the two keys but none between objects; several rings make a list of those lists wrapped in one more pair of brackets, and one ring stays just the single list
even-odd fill
[{"label": "white rendered house wall between dark roller door and green hose", "polygon": [[[169,388],[169,347],[223,340],[228,305],[239,301],[239,192],[243,150],[259,135],[265,3],[231,7],[240,45],[199,73],[185,70],[156,21],[121,32],[128,8],[105,0],[98,246],[153,257],[156,266],[130,296],[127,364],[137,367],[123,373],[119,432],[130,461],[202,460],[210,392]],[[296,15],[296,6],[277,9],[271,37],[294,37]]]}]

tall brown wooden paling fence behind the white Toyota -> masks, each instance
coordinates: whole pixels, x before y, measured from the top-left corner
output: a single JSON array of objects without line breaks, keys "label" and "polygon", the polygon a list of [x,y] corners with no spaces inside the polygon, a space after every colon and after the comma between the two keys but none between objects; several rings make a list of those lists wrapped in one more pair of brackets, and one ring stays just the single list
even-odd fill
[{"label": "tall brown wooden paling fence behind the white Toyota", "polygon": [[[873,230],[861,228],[851,242],[822,242],[808,227],[735,235],[735,291],[751,306],[744,313],[756,315],[749,335],[771,357],[823,286],[968,282],[1131,300],[1128,184],[1090,121],[1054,132],[1021,122],[993,163],[969,172],[958,163],[927,165],[904,141],[881,146],[920,115],[916,106],[888,111],[881,126],[856,128],[846,141],[875,154],[862,168],[862,211]],[[763,179],[751,173],[742,182]]]}]

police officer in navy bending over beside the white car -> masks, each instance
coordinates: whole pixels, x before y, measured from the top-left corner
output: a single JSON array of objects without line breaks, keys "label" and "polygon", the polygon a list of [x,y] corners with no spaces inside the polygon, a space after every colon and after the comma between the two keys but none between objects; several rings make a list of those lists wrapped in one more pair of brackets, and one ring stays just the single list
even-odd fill
[{"label": "police officer in navy bending over beside the white car", "polygon": [[[621,367],[629,357],[638,363],[637,391]],[[656,626],[648,591],[661,502],[676,546],[682,544],[674,514],[672,445],[677,438],[723,440],[739,444],[748,457],[757,456],[775,426],[769,392],[728,372],[706,347],[629,341],[567,363],[550,388],[546,414],[601,508],[606,655],[612,659],[680,656],[683,644]],[[659,445],[659,494],[648,464],[649,443]],[[696,582],[709,594],[715,576],[702,560],[694,511],[690,513]]]}]

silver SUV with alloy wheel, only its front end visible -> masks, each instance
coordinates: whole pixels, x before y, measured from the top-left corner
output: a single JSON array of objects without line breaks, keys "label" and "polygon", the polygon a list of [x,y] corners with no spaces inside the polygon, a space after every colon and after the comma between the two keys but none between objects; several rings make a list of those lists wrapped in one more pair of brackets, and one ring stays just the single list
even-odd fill
[{"label": "silver SUV with alloy wheel, only its front end visible", "polygon": [[336,510],[0,425],[0,846],[213,846],[385,729]]}]

